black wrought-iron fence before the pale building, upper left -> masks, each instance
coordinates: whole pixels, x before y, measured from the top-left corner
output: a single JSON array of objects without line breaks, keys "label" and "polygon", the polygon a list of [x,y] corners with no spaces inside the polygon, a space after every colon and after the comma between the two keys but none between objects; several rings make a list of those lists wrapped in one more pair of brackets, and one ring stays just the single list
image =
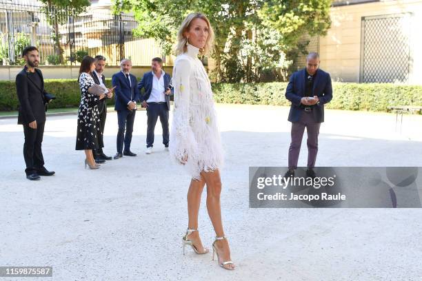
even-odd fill
[{"label": "black wrought-iron fence before the pale building, upper left", "polygon": [[102,54],[108,65],[125,57],[133,65],[148,65],[154,56],[171,63],[154,40],[134,38],[137,25],[132,15],[107,9],[77,14],[37,1],[0,0],[0,64],[23,64],[27,45],[36,45],[41,64],[47,65],[74,65],[86,54]]}]

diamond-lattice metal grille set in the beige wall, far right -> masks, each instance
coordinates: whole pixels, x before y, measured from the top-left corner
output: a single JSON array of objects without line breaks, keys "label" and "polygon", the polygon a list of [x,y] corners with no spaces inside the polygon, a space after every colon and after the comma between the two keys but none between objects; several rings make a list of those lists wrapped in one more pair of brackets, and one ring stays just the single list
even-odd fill
[{"label": "diamond-lattice metal grille set in the beige wall, far right", "polygon": [[362,17],[363,83],[407,83],[412,70],[412,14]]}]

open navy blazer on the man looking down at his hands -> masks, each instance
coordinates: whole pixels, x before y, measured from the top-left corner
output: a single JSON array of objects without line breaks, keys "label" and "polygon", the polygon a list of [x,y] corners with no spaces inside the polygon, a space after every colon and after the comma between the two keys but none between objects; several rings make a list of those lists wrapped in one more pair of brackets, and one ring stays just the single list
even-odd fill
[{"label": "open navy blazer on the man looking down at his hands", "polygon": [[[312,107],[312,114],[317,123],[324,122],[324,104],[329,103],[332,99],[332,85],[330,74],[323,70],[316,70],[314,78],[314,87],[312,96],[318,96],[319,104]],[[306,69],[294,72],[290,76],[290,81],[285,89],[285,98],[292,102],[288,121],[299,122],[303,108],[301,108],[301,98],[305,96],[306,90]]]}]

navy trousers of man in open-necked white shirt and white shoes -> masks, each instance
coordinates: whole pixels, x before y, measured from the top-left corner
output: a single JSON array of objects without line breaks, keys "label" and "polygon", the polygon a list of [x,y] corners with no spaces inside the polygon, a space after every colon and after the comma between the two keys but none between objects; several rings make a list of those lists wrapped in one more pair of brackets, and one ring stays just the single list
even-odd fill
[{"label": "navy trousers of man in open-necked white shirt and white shoes", "polygon": [[147,107],[147,147],[154,145],[154,129],[160,118],[163,128],[163,145],[168,147],[170,134],[168,131],[168,107],[166,103],[148,103]]}]

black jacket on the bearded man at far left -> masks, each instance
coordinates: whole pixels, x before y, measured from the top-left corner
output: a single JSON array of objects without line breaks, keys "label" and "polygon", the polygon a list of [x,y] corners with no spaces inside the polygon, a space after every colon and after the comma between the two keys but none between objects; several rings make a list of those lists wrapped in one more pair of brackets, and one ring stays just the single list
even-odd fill
[{"label": "black jacket on the bearded man at far left", "polygon": [[32,121],[37,121],[37,123],[46,121],[48,98],[45,96],[47,93],[44,90],[43,74],[37,68],[35,72],[41,78],[41,88],[30,79],[26,66],[16,76],[16,91],[19,99],[18,124],[28,125]]}]

